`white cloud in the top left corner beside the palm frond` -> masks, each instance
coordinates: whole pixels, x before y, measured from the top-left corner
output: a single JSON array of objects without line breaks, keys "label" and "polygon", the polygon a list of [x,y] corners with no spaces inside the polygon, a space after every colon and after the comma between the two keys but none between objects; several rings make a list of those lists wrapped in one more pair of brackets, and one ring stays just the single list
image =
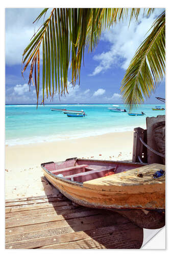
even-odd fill
[{"label": "white cloud in the top left corner beside the palm frond", "polygon": [[[21,65],[23,51],[43,22],[42,17],[38,24],[33,24],[42,10],[43,8],[6,8],[5,50],[7,65]],[[47,17],[48,14],[46,14],[45,19]]]}]

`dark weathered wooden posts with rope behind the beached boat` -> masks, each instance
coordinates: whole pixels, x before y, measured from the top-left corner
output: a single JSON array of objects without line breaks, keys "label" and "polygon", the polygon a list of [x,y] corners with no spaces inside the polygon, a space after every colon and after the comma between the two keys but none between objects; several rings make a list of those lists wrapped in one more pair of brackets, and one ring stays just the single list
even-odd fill
[{"label": "dark weathered wooden posts with rope behind the beached boat", "polygon": [[[153,148],[156,152],[159,153],[158,144],[155,141],[154,136],[154,126],[155,124],[165,122],[165,115],[159,115],[157,117],[147,117],[147,129],[144,130],[141,127],[137,127],[134,129],[134,136],[133,136],[133,157],[132,162],[143,162],[143,163],[160,163],[165,164],[165,158],[155,154],[149,148],[147,148],[141,142],[140,138],[147,144],[149,147]],[[163,137],[163,135],[162,135]],[[164,143],[165,141],[161,141]],[[140,161],[141,160],[141,161]]]}]

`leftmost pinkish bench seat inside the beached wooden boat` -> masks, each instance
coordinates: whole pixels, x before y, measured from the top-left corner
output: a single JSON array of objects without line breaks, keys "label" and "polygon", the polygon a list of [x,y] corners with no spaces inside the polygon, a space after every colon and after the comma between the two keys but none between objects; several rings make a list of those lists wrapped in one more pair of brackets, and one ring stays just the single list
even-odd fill
[{"label": "leftmost pinkish bench seat inside the beached wooden boat", "polygon": [[73,174],[84,173],[86,167],[88,167],[87,164],[82,164],[82,165],[52,170],[51,173],[55,174],[55,175],[62,174],[63,176],[69,176],[69,175],[73,175]]}]

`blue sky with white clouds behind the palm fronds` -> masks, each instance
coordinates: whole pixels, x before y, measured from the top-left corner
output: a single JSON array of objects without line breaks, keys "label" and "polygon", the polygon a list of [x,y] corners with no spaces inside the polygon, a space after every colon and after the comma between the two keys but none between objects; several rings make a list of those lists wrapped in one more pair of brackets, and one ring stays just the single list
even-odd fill
[{"label": "blue sky with white clouds behind the palm fronds", "polygon": [[[41,23],[33,21],[41,8],[6,9],[6,103],[36,103],[35,88],[28,86],[28,71],[25,79],[21,76],[23,50]],[[50,9],[51,10],[51,9]],[[49,10],[49,12],[50,12]],[[139,17],[139,23],[120,23],[105,31],[93,53],[85,52],[85,66],[82,65],[80,86],[69,86],[69,94],[45,99],[45,103],[122,103],[120,86],[129,62],[156,16],[163,9],[156,8],[149,17]],[[46,14],[46,18],[48,14]],[[69,78],[68,78],[69,83]],[[42,92],[40,92],[40,101]],[[158,103],[155,97],[165,97],[165,79],[160,83],[155,95],[144,103]],[[160,102],[159,102],[160,103]]]}]

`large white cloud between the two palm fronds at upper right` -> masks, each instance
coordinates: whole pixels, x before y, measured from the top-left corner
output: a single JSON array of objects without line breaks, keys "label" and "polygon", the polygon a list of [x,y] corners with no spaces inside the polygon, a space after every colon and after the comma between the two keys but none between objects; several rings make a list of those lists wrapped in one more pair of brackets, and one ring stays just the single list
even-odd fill
[{"label": "large white cloud between the two palm fronds at upper right", "polygon": [[149,18],[143,17],[141,12],[138,18],[139,23],[133,20],[128,28],[129,21],[121,22],[106,30],[101,39],[110,42],[111,47],[108,52],[94,55],[93,59],[98,61],[99,65],[95,67],[89,76],[105,72],[114,65],[126,70],[137,48],[144,38],[148,36],[148,34],[145,34],[151,28],[156,15],[159,15],[162,11],[163,9],[156,8]]}]

